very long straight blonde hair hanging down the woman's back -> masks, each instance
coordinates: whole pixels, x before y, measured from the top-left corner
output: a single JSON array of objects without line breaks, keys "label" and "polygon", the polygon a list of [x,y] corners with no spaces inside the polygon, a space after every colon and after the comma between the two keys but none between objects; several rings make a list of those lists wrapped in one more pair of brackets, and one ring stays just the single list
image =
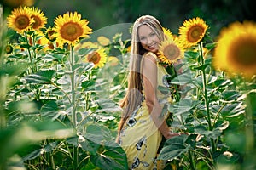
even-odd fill
[{"label": "very long straight blonde hair hanging down the woman's back", "polygon": [[139,17],[131,32],[131,58],[130,58],[130,73],[128,77],[128,89],[125,98],[122,100],[121,107],[123,113],[119,122],[119,131],[124,127],[124,123],[131,116],[132,112],[136,110],[137,106],[142,102],[142,74],[141,74],[141,61],[143,54],[147,51],[139,42],[137,30],[140,26],[147,25],[156,35],[160,41],[164,39],[163,29],[160,22],[151,15],[143,15]]}]

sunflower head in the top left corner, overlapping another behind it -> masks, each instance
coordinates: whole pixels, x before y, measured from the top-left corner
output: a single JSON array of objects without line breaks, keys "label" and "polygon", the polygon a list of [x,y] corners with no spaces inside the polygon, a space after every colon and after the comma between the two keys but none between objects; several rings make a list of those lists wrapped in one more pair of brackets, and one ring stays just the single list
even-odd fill
[{"label": "sunflower head in the top left corner, overlapping another behind it", "polygon": [[6,20],[7,26],[19,33],[29,30],[34,22],[32,10],[26,6],[15,8]]}]

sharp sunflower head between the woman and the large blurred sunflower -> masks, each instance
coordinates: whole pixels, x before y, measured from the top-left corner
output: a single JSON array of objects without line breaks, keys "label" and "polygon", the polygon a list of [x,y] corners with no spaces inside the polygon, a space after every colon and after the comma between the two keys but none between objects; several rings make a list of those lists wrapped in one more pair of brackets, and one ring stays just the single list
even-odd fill
[{"label": "sharp sunflower head between the woman and the large blurred sunflower", "polygon": [[183,26],[179,27],[179,35],[184,44],[190,48],[201,42],[207,32],[208,26],[199,17],[185,20]]}]

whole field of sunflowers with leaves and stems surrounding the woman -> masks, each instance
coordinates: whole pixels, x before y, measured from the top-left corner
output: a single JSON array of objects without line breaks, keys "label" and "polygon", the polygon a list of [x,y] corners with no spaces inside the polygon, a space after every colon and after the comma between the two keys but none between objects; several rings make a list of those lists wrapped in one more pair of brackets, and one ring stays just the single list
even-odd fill
[{"label": "whole field of sunflowers with leaves and stems surrounding the woman", "polygon": [[[128,169],[115,139],[132,24],[105,37],[78,12],[47,21],[27,6],[1,19],[0,169]],[[159,88],[172,97],[170,127],[186,134],[164,140],[158,160],[165,169],[255,169],[256,23],[230,23],[217,39],[209,27],[195,17],[177,35],[163,28],[169,86]]]}]

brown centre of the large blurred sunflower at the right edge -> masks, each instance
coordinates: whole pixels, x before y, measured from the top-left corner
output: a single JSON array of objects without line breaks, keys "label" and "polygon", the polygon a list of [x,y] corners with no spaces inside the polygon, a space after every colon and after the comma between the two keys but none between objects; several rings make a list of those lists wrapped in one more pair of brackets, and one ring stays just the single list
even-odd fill
[{"label": "brown centre of the large blurred sunflower at the right edge", "polygon": [[232,61],[236,65],[255,66],[256,65],[256,42],[248,38],[246,42],[239,41],[233,46]]}]

